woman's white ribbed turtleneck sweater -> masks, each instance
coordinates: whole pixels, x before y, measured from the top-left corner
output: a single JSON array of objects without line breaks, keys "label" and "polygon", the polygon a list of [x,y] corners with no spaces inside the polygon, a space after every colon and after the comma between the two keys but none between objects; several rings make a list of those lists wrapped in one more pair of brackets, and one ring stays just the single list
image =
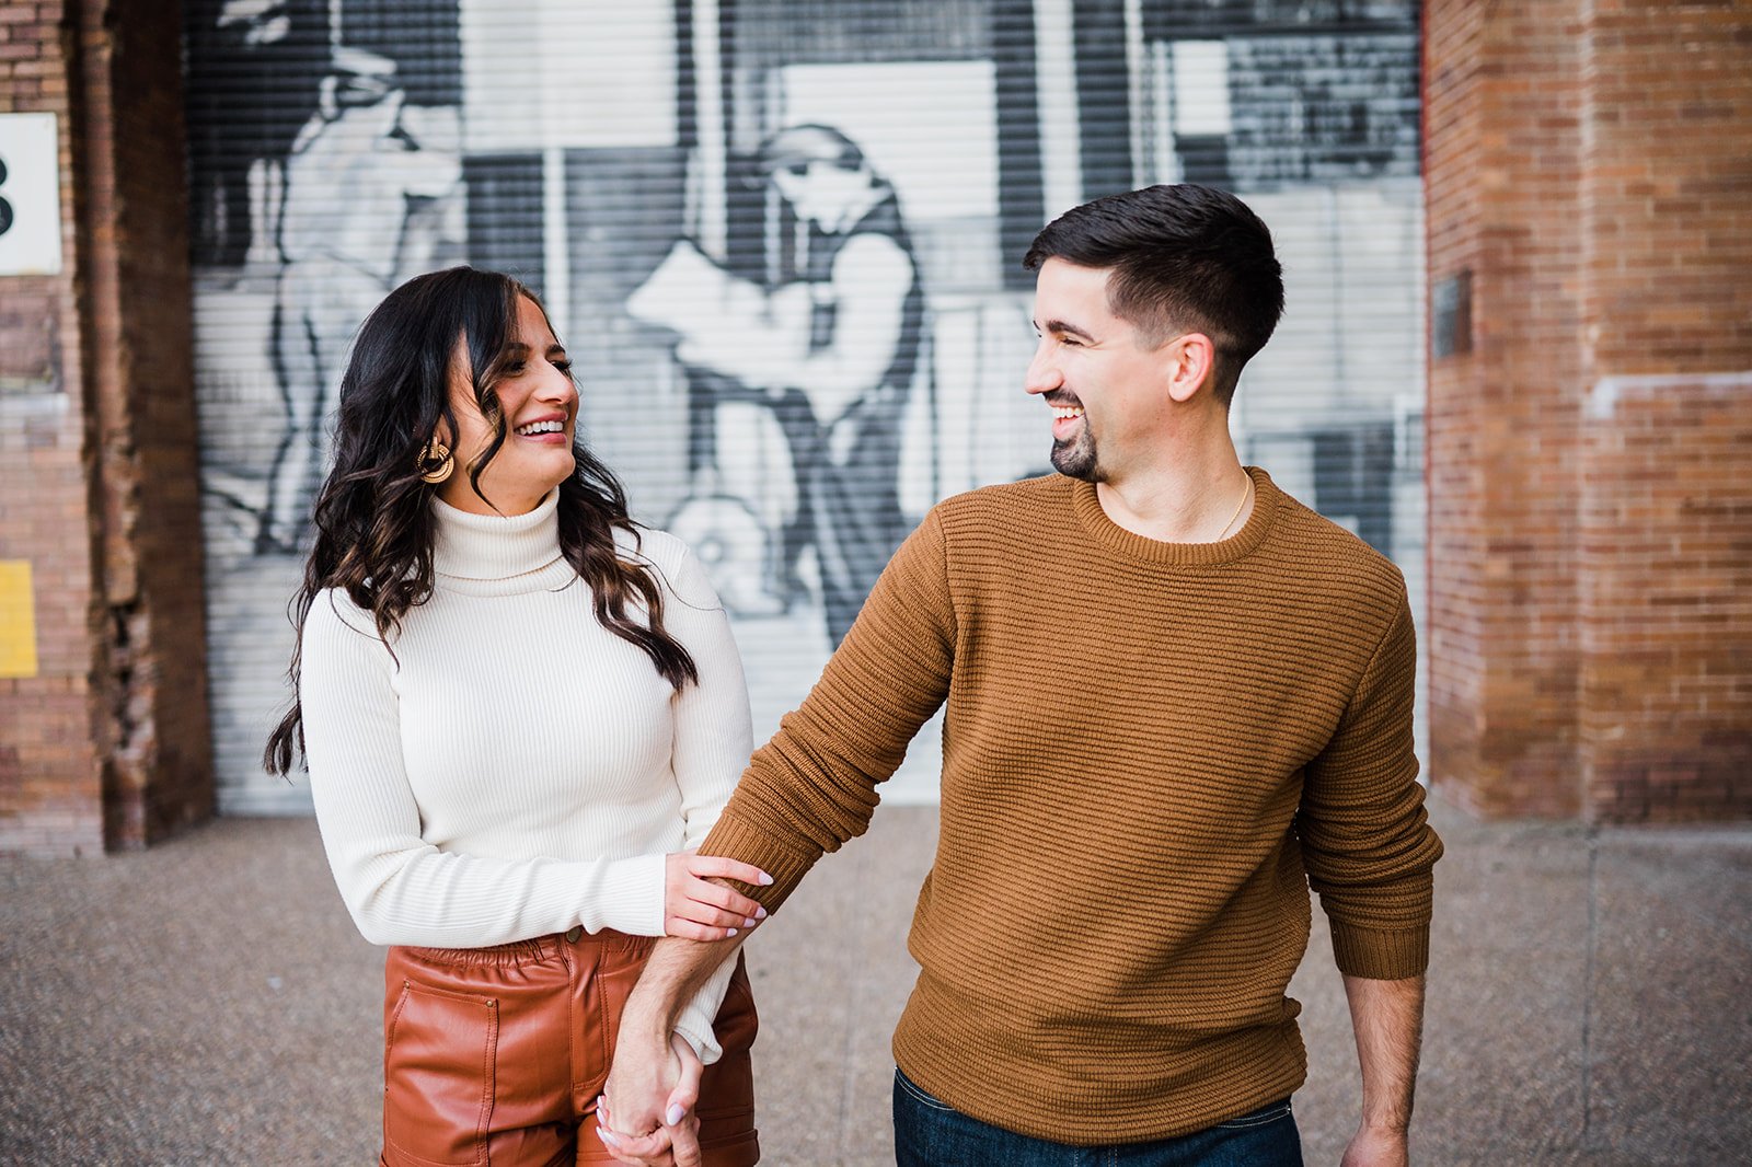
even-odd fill
[{"label": "woman's white ribbed turtleneck sweater", "polygon": [[[661,936],[664,855],[706,838],[748,762],[741,659],[699,561],[662,531],[638,550],[617,531],[655,569],[664,627],[699,668],[675,692],[596,620],[557,505],[555,491],[505,519],[433,499],[433,596],[387,647],[343,591],[310,605],[310,792],[373,944],[484,948],[573,925]],[[708,1064],[732,964],[678,1025]]]}]

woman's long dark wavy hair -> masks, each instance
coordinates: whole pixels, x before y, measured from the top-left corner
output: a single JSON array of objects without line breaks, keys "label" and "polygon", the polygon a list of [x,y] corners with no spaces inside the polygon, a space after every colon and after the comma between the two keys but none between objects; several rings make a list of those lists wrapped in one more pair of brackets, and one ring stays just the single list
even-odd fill
[{"label": "woman's long dark wavy hair", "polygon": [[[519,296],[540,307],[508,275],[449,268],[417,275],[389,293],[359,326],[340,382],[335,468],[317,492],[315,545],[291,605],[300,643],[287,671],[293,706],[268,736],[263,764],[270,773],[289,774],[305,752],[298,673],[305,617],[317,596],[331,587],[345,591],[371,613],[385,647],[406,610],[431,598],[436,531],[431,499],[438,487],[420,478],[420,454],[440,422],[449,433],[461,433],[450,407],[461,343],[475,405],[498,431],[473,464],[457,466],[480,494],[480,473],[508,436],[494,385],[517,333]],[[615,527],[638,543],[625,492],[576,438],[571,452],[576,470],[559,484],[559,545],[590,587],[596,619],[645,652],[675,689],[697,682],[694,659],[664,631],[653,569],[624,559],[615,547]],[[634,603],[643,613],[629,612]]]}]

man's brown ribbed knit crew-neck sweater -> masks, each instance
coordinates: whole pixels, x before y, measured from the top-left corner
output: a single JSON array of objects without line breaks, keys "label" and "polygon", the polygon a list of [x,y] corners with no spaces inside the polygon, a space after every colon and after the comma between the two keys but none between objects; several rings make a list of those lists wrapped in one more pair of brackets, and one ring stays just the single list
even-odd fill
[{"label": "man's brown ribbed knit crew-neck sweater", "polygon": [[1405,584],[1249,473],[1221,543],[1132,534],[1062,477],[941,503],[701,848],[776,908],[948,701],[894,1051],[974,1118],[1134,1142],[1291,1093],[1309,885],[1344,972],[1424,969]]}]

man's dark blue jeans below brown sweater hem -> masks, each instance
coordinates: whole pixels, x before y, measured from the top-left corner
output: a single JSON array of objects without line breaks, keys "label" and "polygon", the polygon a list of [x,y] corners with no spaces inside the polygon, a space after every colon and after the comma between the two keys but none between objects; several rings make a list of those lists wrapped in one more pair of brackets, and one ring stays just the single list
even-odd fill
[{"label": "man's dark blue jeans below brown sweater hem", "polygon": [[1289,1099],[1207,1130],[1155,1142],[1067,1146],[969,1118],[894,1072],[899,1167],[1302,1167]]}]

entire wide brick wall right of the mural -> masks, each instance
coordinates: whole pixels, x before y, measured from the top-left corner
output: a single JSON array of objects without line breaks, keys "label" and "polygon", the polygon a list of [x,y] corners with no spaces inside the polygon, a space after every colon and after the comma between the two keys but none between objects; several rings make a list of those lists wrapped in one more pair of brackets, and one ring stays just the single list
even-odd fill
[{"label": "entire wide brick wall right of the mural", "polygon": [[[1731,475],[1682,471],[1727,470],[1726,407],[1673,377],[1752,368],[1752,12],[1482,7],[1426,9],[1430,279],[1472,277],[1470,350],[1430,366],[1431,774],[1486,815],[1745,817],[1752,666],[1680,678],[1752,543]],[[1622,375],[1673,391],[1601,412]],[[1638,548],[1705,512],[1706,569]]]}]

